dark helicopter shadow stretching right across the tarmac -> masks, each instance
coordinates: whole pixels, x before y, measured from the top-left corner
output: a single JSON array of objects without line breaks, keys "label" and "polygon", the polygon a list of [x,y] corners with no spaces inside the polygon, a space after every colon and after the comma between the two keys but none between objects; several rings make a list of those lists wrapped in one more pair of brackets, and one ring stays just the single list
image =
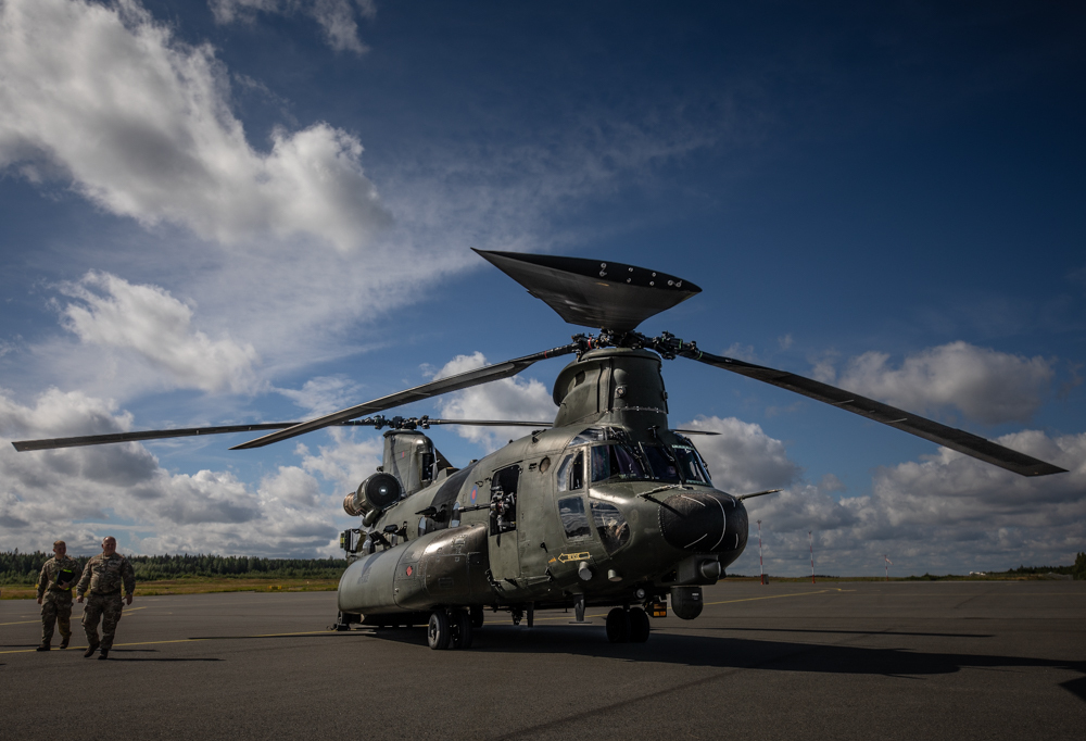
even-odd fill
[{"label": "dark helicopter shadow stretching right across the tarmac", "polygon": [[[731,630],[731,629],[729,629]],[[791,631],[862,636],[947,637],[985,639],[980,633],[925,633],[884,631]],[[375,631],[382,640],[411,643],[425,649],[420,630],[386,629]],[[847,638],[843,639],[847,640]],[[769,671],[810,671],[829,674],[875,675],[922,678],[956,674],[962,669],[1013,671],[1024,668],[1055,668],[1077,671],[1078,678],[1060,687],[1086,702],[1086,662],[1059,661],[1028,656],[924,652],[914,649],[879,649],[856,645],[803,643],[797,641],[757,640],[731,636],[686,636],[654,632],[647,643],[615,644],[607,641],[602,628],[535,626],[488,626],[475,635],[471,652],[510,654],[574,654],[629,662],[658,662],[720,669],[759,669]]]}]

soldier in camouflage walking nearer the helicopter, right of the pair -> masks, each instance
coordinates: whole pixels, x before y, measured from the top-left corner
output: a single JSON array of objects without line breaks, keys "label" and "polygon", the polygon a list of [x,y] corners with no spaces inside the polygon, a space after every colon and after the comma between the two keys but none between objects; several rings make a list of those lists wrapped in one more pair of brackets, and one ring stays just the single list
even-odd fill
[{"label": "soldier in camouflage walking nearer the helicopter, right of the pair", "polygon": [[113,648],[113,633],[117,630],[121,612],[124,605],[121,601],[121,588],[124,587],[125,602],[132,603],[132,592],[136,590],[136,574],[128,560],[117,553],[115,538],[102,540],[102,552],[87,562],[83,569],[83,578],[76,587],[76,601],[83,602],[83,595],[89,587],[90,596],[83,611],[83,627],[87,630],[89,643],[85,658],[90,658],[99,646],[98,619],[102,618],[102,652],[99,658],[109,658]]}]

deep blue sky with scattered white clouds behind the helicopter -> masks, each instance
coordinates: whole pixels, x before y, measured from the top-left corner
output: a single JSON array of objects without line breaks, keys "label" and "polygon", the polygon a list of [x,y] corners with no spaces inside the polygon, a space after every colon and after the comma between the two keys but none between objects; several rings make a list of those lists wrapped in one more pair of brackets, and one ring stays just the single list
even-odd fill
[{"label": "deep blue sky with scattered white clouds behind the helicopter", "polygon": [[[468,248],[667,271],[643,326],[997,439],[1026,480],[668,363],[774,574],[1086,550],[1086,14],[986,3],[0,1],[0,547],[317,555],[380,437],[304,418],[568,341]],[[403,410],[553,415],[561,362]],[[504,437],[503,437],[504,436]],[[454,462],[508,431],[434,430]],[[757,572],[750,549],[733,567]]]}]

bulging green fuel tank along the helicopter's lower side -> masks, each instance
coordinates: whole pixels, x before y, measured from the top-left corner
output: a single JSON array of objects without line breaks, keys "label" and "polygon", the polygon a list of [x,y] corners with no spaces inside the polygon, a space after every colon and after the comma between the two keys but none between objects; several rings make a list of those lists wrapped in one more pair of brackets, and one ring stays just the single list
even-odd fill
[{"label": "bulging green fuel tank along the helicopter's lower side", "polygon": [[340,612],[380,615],[488,602],[487,532],[484,523],[438,530],[355,561],[340,578]]}]

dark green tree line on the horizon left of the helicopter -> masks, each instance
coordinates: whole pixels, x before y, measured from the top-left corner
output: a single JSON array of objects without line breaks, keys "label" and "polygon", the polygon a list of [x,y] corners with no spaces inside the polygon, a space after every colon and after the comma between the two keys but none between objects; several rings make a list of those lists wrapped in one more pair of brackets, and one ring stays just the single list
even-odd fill
[{"label": "dark green tree line on the horizon left of the helicopter", "polygon": [[[35,551],[0,552],[0,585],[36,585],[41,566],[52,553]],[[226,577],[236,579],[338,579],[346,568],[343,558],[261,558],[219,555],[125,556],[136,572],[137,581],[184,579],[186,577]],[[78,558],[80,565],[87,558]]]}]

